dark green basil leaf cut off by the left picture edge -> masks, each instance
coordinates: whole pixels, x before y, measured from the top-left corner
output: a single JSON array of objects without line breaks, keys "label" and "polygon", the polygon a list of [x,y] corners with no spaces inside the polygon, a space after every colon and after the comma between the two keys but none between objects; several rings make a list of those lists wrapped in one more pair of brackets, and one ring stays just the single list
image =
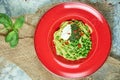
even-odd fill
[{"label": "dark green basil leaf cut off by the left picture edge", "polygon": [[0,13],[0,23],[3,24],[6,29],[12,28],[12,20],[6,14]]}]

